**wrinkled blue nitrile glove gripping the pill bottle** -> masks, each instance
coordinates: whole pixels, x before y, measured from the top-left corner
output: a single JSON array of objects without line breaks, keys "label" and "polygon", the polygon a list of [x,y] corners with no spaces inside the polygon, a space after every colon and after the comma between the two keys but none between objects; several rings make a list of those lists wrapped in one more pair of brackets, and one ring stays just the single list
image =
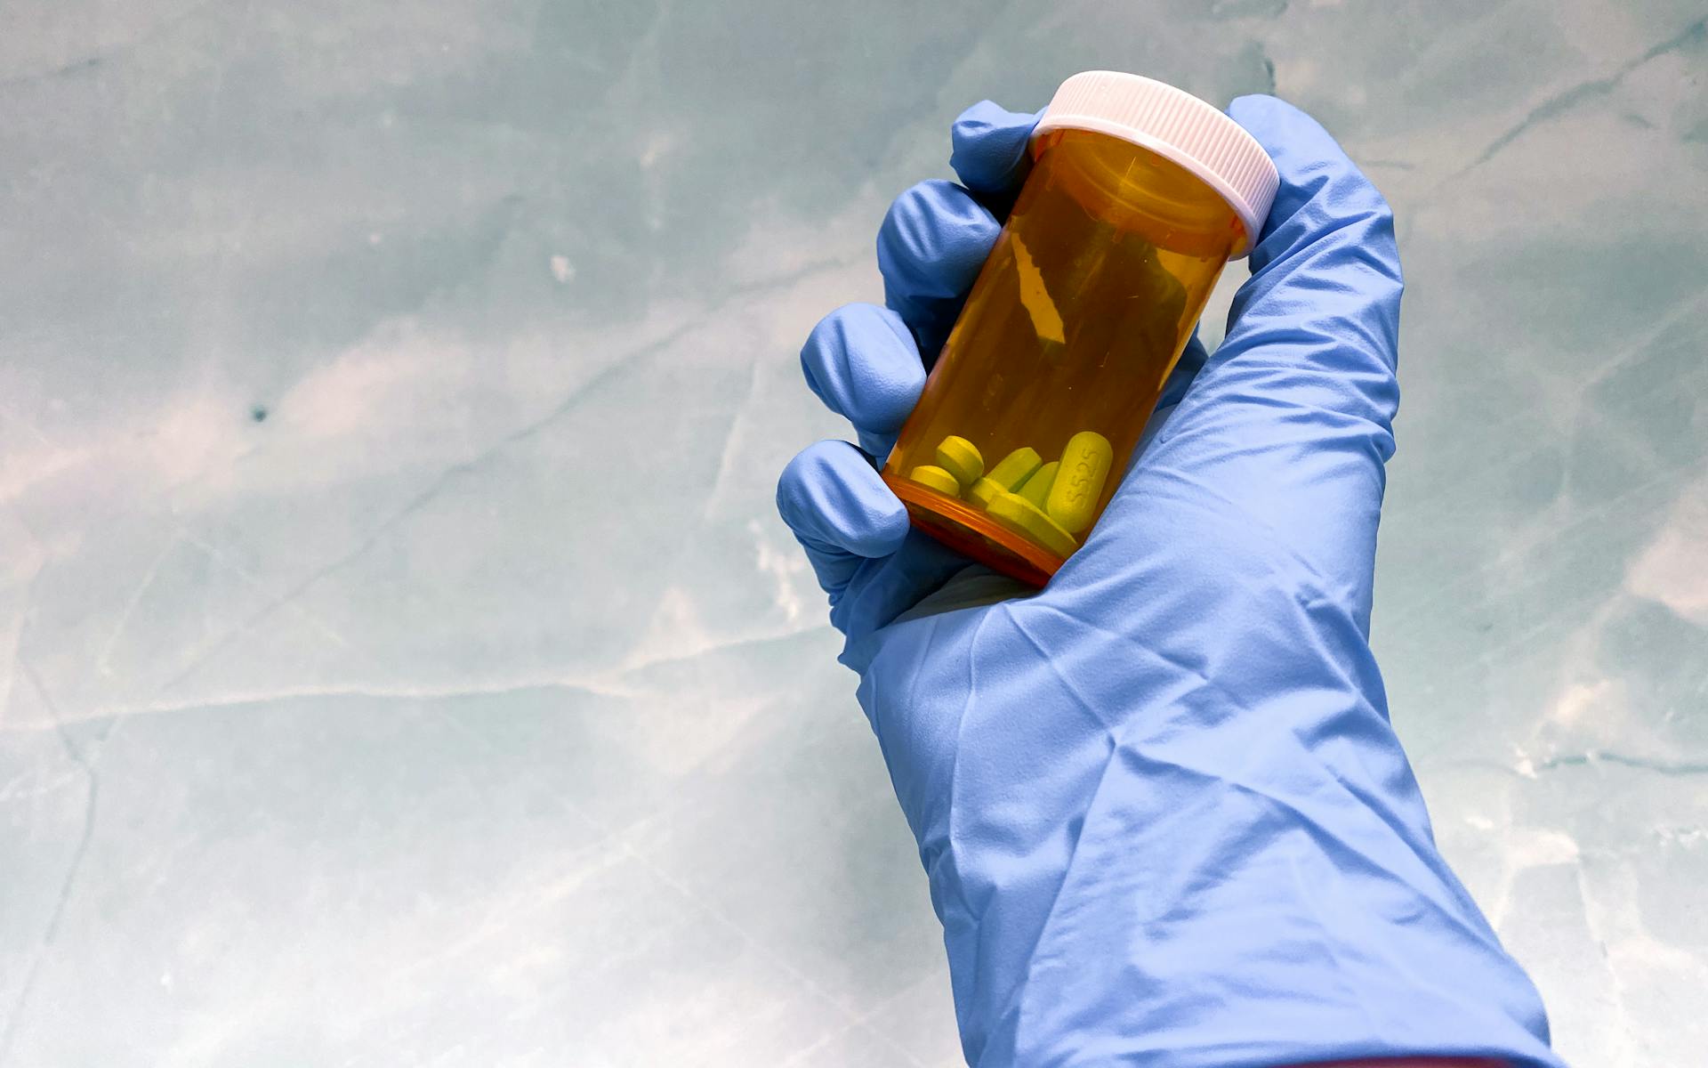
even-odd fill
[{"label": "wrinkled blue nitrile glove gripping the pill bottle", "polygon": [[[851,444],[808,448],[777,490],[919,839],[967,1059],[1558,1065],[1535,989],[1436,853],[1370,654],[1392,215],[1303,113],[1230,113],[1281,171],[1252,279],[1042,593],[910,533]],[[886,308],[842,308],[806,343],[808,384],[880,460],[1033,121],[967,111],[965,188],[914,186],[878,236]]]}]

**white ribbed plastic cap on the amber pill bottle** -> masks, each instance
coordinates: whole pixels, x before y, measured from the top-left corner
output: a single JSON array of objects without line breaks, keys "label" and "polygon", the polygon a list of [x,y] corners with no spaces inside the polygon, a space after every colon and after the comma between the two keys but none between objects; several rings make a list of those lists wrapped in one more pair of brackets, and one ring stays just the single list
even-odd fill
[{"label": "white ribbed plastic cap on the amber pill bottle", "polygon": [[1281,176],[1237,121],[1184,89],[1136,73],[1086,70],[1061,84],[1033,137],[1095,130],[1163,156],[1221,193],[1245,226],[1243,256],[1269,217]]}]

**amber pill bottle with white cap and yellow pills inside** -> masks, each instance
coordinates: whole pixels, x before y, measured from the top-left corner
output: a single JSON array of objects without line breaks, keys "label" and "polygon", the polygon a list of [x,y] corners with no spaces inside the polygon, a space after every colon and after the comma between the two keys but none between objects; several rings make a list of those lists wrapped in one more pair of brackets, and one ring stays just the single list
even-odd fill
[{"label": "amber pill bottle with white cap and yellow pills inside", "polygon": [[1062,82],[1030,154],[883,480],[914,526],[1042,586],[1114,496],[1278,176],[1216,108],[1105,70]]}]

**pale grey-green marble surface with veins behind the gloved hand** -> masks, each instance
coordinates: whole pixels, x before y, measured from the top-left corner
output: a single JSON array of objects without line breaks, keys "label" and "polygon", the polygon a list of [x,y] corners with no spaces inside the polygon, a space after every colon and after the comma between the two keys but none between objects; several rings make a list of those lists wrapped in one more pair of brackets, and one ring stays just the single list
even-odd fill
[{"label": "pale grey-green marble surface with veins behind the gloved hand", "polygon": [[1392,198],[1395,721],[1559,1049],[1708,1061],[1701,0],[7,0],[0,1065],[958,1063],[770,497],[1093,67]]}]

